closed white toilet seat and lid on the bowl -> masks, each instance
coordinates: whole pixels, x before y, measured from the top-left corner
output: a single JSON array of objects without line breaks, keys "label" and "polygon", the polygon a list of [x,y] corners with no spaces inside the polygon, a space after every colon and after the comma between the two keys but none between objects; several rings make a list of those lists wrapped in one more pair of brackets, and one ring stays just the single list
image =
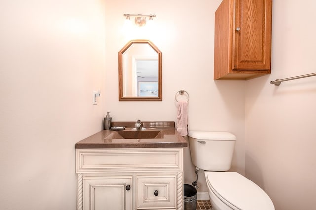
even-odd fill
[{"label": "closed white toilet seat and lid on the bowl", "polygon": [[237,172],[205,171],[205,177],[213,193],[234,210],[274,210],[269,196]]}]

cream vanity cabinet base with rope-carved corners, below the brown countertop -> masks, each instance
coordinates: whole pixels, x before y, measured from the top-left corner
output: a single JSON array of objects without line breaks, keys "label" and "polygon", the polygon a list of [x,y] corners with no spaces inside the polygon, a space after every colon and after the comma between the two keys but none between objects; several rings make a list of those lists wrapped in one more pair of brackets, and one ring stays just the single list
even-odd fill
[{"label": "cream vanity cabinet base with rope-carved corners, below the brown countertop", "polygon": [[183,148],[76,149],[77,210],[183,210]]}]

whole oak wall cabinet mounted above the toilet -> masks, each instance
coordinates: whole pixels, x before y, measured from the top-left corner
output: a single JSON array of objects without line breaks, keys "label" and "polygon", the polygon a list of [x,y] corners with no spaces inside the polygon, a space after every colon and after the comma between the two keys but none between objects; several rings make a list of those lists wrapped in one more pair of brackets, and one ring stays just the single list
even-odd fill
[{"label": "whole oak wall cabinet mounted above the toilet", "polygon": [[270,74],[272,0],[223,0],[215,12],[214,80]]}]

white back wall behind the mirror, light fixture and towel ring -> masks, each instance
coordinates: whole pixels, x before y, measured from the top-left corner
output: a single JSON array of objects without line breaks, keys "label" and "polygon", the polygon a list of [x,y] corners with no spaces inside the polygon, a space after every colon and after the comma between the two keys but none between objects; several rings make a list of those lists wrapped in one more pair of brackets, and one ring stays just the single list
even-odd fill
[{"label": "white back wall behind the mirror, light fixture and towel ring", "polygon": [[[238,140],[232,170],[244,174],[245,82],[213,80],[214,12],[220,2],[106,0],[106,111],[113,121],[176,121],[174,97],[184,89],[190,95],[189,129],[233,132]],[[124,31],[128,13],[155,14],[153,28]],[[118,51],[130,39],[149,39],[162,51],[163,101],[118,101]],[[185,182],[192,183],[188,148],[185,160]],[[199,175],[199,191],[207,191]]]}]

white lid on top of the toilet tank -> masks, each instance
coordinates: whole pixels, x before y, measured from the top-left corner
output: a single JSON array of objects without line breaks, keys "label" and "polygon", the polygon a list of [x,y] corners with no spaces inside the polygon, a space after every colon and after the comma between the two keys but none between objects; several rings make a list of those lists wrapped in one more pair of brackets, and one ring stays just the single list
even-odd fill
[{"label": "white lid on top of the toilet tank", "polygon": [[189,131],[189,136],[195,139],[203,140],[236,140],[236,136],[230,132],[219,131]]}]

